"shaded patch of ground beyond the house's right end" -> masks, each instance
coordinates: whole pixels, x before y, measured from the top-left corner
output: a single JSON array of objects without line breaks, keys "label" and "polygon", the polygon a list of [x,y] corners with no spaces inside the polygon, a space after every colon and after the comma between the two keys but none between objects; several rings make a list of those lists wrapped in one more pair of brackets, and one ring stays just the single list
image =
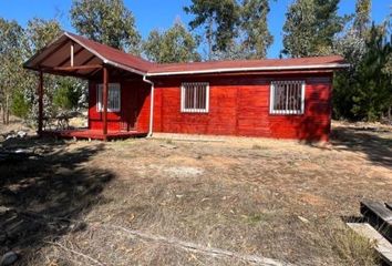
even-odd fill
[{"label": "shaded patch of ground beyond the house's right end", "polygon": [[373,164],[392,167],[392,137],[390,135],[392,132],[375,129],[336,127],[330,142],[337,150],[362,152]]}]

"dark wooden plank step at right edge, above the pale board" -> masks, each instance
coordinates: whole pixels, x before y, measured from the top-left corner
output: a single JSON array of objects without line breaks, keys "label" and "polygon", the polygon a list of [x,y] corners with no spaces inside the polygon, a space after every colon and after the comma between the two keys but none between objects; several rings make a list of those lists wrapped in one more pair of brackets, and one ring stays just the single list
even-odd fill
[{"label": "dark wooden plank step at right edge, above the pale board", "polygon": [[368,200],[362,201],[361,214],[369,224],[392,242],[392,209],[386,204]]}]

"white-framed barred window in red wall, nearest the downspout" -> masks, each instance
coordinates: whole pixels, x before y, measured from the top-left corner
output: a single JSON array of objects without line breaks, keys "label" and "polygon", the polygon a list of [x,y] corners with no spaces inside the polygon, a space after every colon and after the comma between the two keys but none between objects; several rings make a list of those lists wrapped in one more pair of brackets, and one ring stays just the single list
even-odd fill
[{"label": "white-framed barred window in red wall, nearest the downspout", "polygon": [[209,84],[207,82],[183,83],[180,90],[180,111],[208,113]]}]

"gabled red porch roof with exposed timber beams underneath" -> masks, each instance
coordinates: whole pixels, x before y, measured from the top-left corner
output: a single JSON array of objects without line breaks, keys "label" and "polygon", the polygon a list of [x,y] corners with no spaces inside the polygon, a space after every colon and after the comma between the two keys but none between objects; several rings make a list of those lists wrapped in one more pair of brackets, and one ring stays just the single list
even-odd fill
[{"label": "gabled red porch roof with exposed timber beams underneath", "polygon": [[90,78],[103,64],[141,75],[146,74],[147,70],[155,65],[142,58],[64,32],[28,60],[23,66],[47,73]]}]

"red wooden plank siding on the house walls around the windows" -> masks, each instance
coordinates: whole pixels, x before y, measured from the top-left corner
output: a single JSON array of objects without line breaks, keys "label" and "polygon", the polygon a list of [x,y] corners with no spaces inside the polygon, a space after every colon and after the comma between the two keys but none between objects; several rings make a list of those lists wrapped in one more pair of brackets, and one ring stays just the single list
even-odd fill
[{"label": "red wooden plank siding on the house walls around the windows", "polygon": [[[305,80],[303,114],[270,114],[270,82]],[[331,114],[330,73],[274,76],[159,78],[155,82],[154,132],[265,136],[328,141]],[[182,82],[209,83],[209,112],[182,113]],[[90,127],[101,129],[95,86],[90,84]],[[121,82],[122,112],[109,113],[109,129],[134,112],[138,132],[148,131],[151,86],[142,80]]]}]

